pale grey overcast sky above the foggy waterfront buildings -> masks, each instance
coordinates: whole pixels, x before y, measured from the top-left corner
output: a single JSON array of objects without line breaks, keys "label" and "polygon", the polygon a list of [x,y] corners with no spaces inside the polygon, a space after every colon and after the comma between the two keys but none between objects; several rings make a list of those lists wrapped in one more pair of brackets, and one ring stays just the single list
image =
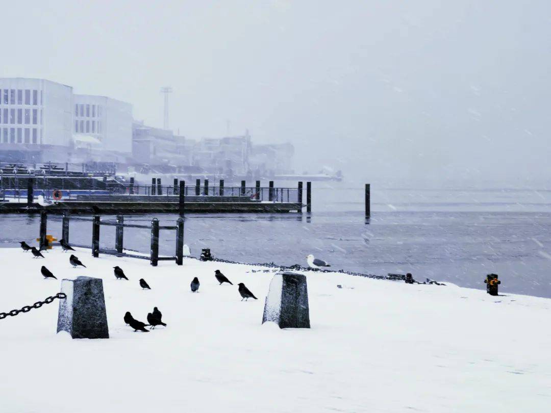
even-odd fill
[{"label": "pale grey overcast sky above the foggy waterfront buildings", "polygon": [[131,102],[298,171],[548,180],[551,1],[6,1],[0,76]]}]

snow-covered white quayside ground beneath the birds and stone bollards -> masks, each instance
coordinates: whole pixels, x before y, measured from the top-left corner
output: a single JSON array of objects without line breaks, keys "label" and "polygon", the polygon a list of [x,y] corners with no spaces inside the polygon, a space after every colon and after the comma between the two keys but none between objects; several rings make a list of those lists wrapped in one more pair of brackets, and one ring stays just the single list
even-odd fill
[{"label": "snow-covered white quayside ground beneath the birds and stone bollards", "polygon": [[[1,412],[547,412],[551,333],[545,298],[491,297],[307,271],[311,329],[261,325],[273,272],[185,259],[183,266],[0,249],[0,311],[104,280],[110,339],[56,335],[57,300],[0,320]],[[58,280],[44,280],[46,265]],[[117,281],[119,265],[130,279]],[[218,285],[220,269],[234,285]],[[269,269],[272,271],[272,269]],[[198,276],[198,294],[190,282]],[[144,278],[152,290],[142,290]],[[237,283],[259,299],[241,302]],[[481,280],[482,282],[482,280]],[[337,288],[342,285],[342,289]],[[168,327],[135,333],[159,307]]]}]

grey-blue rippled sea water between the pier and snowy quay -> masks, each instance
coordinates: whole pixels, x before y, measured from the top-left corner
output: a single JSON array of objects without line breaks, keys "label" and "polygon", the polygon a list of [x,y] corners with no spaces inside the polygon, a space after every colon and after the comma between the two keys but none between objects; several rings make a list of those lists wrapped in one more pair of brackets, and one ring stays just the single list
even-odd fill
[{"label": "grey-blue rippled sea water between the pier and snowy quay", "polygon": [[[547,189],[401,189],[372,186],[372,218],[364,221],[363,188],[314,183],[312,215],[190,214],[185,242],[193,256],[240,262],[306,264],[313,253],[333,269],[413,273],[484,289],[497,273],[500,290],[551,297],[551,191]],[[158,214],[161,225],[176,216]],[[148,224],[152,216],[126,218]],[[38,216],[0,215],[0,245],[34,240]],[[61,217],[48,218],[61,233]],[[91,224],[71,223],[71,241],[90,244]],[[149,251],[149,231],[125,229],[125,247]],[[161,231],[161,254],[174,254],[174,231]],[[102,247],[115,229],[101,227]]]}]

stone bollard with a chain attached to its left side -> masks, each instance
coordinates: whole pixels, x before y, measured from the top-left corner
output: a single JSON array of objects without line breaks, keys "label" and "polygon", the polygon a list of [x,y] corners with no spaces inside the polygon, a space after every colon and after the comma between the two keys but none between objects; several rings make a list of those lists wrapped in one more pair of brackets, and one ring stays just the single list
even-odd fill
[{"label": "stone bollard with a chain attached to its left side", "polygon": [[60,301],[57,332],[68,332],[73,339],[108,339],[107,314],[101,278],[80,276],[63,279],[61,292],[67,295]]}]

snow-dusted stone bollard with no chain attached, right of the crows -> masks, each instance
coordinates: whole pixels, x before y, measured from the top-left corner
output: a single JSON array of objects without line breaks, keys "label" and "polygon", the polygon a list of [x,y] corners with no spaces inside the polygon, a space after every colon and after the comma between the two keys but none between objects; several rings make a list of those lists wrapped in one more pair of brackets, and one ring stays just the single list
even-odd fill
[{"label": "snow-dusted stone bollard with no chain attached, right of the crows", "polygon": [[283,271],[270,282],[262,324],[272,321],[279,328],[310,328],[306,276]]}]

